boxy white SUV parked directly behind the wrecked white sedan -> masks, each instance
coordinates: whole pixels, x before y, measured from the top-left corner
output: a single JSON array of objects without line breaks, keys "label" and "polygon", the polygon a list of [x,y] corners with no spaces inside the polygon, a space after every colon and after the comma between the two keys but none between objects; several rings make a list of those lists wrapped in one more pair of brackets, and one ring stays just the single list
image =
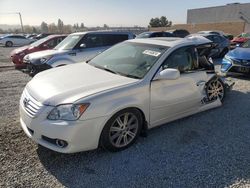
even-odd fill
[{"label": "boxy white SUV parked directly behind the wrecked white sedan", "polygon": [[66,37],[53,50],[35,52],[24,57],[30,75],[62,65],[92,59],[97,54],[119,42],[133,39],[130,32],[81,32]]}]

